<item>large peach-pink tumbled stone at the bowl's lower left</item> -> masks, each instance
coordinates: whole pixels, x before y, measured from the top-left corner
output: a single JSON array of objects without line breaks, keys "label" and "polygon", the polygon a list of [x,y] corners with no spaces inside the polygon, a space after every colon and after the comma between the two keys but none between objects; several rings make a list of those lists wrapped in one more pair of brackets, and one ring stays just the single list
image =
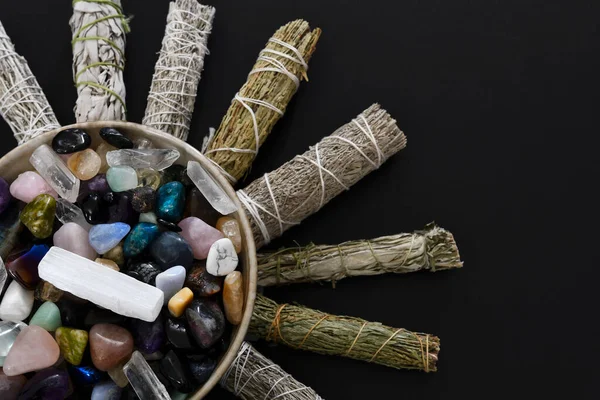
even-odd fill
[{"label": "large peach-pink tumbled stone at the bowl's lower left", "polygon": [[6,376],[21,375],[53,366],[60,349],[51,334],[39,326],[24,328],[4,360]]}]

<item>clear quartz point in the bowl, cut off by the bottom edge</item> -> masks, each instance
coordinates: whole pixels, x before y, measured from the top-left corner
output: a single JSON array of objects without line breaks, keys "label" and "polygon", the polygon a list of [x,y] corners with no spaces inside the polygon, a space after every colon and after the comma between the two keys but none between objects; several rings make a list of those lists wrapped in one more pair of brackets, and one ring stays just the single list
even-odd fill
[{"label": "clear quartz point in the bowl, cut off by the bottom edge", "polygon": [[131,359],[123,367],[123,372],[140,399],[171,400],[169,392],[139,351],[133,352]]}]

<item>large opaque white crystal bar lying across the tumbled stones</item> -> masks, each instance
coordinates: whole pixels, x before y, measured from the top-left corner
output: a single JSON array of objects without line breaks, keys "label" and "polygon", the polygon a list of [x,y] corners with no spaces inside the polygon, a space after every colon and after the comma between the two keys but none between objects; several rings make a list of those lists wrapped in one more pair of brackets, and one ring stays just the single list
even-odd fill
[{"label": "large opaque white crystal bar lying across the tumbled stones", "polygon": [[117,314],[152,322],[164,294],[128,275],[53,246],[38,267],[40,278]]}]

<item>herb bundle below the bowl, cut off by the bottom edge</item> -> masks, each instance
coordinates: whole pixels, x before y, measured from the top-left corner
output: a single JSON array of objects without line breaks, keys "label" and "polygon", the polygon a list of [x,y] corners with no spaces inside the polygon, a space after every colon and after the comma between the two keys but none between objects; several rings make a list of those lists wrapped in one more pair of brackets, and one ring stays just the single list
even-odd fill
[{"label": "herb bundle below the bowl, cut off by the bottom edge", "polygon": [[322,400],[312,388],[298,382],[247,342],[242,343],[221,386],[244,400]]}]

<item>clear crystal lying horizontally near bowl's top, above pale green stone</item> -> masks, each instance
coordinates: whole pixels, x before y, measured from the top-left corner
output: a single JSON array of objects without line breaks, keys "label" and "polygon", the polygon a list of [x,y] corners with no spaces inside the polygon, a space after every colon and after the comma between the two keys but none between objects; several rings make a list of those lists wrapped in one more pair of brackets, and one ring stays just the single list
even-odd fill
[{"label": "clear crystal lying horizontally near bowl's top, above pale green stone", "polygon": [[152,168],[157,171],[169,168],[179,158],[175,149],[123,149],[106,153],[111,167],[126,165],[134,169]]}]

